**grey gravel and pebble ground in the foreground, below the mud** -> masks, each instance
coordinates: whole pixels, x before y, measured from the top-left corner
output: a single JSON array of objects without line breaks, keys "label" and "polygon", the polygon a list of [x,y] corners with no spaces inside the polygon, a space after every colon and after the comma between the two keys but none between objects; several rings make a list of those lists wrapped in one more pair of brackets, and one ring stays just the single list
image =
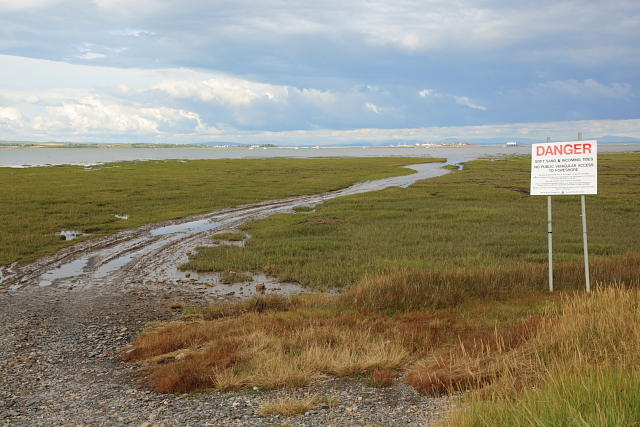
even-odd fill
[{"label": "grey gravel and pebble ground in the foreground, below the mud", "polygon": [[[136,283],[71,290],[61,283],[0,294],[0,426],[425,426],[449,410],[449,398],[422,396],[402,379],[386,389],[323,377],[255,394],[152,392],[118,350],[146,322],[175,318],[168,301],[206,302],[198,292],[167,291],[170,299]],[[290,419],[257,414],[264,403],[313,395],[336,404]]]}]

